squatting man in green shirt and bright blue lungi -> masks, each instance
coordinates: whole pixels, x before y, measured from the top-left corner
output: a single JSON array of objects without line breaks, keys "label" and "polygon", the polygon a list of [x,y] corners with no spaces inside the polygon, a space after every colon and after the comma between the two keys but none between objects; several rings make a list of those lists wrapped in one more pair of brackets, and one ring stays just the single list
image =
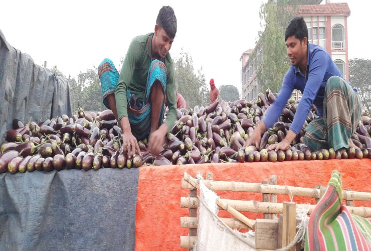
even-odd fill
[{"label": "squatting man in green shirt and bright blue lungi", "polygon": [[[103,103],[119,121],[122,144],[129,158],[133,154],[141,155],[137,140],[148,134],[148,151],[158,154],[175,122],[174,65],[168,53],[175,34],[174,11],[164,6],[158,13],[154,33],[131,41],[119,76],[109,59],[98,67]],[[168,113],[162,123],[165,95]]]}]

